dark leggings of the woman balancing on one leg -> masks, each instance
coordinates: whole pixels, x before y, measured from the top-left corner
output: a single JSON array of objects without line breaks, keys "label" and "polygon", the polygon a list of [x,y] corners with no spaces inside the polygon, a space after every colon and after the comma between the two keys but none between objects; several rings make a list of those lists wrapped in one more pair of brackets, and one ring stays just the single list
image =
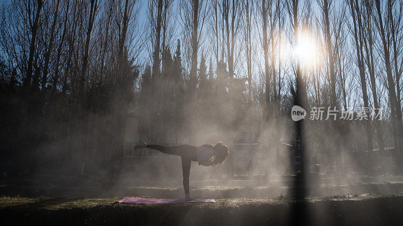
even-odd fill
[{"label": "dark leggings of the woman balancing on one leg", "polygon": [[189,194],[189,175],[191,161],[197,161],[196,147],[190,145],[179,145],[173,147],[165,147],[162,145],[147,145],[147,148],[161,151],[165,154],[180,156],[182,160],[183,188],[185,194]]}]

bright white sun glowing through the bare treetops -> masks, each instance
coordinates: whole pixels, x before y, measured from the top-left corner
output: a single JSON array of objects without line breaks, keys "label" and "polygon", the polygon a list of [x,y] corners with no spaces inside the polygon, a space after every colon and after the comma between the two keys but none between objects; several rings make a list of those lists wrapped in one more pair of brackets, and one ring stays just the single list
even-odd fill
[{"label": "bright white sun glowing through the bare treetops", "polygon": [[294,48],[294,54],[299,58],[303,67],[310,67],[316,64],[317,46],[312,35],[307,32],[299,35],[298,44]]}]

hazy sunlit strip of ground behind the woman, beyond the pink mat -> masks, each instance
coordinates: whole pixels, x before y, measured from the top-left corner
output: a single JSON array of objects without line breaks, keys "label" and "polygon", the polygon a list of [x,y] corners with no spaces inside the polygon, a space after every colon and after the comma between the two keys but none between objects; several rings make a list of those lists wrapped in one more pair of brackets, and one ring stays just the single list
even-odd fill
[{"label": "hazy sunlit strip of ground behind the woman, beyond the pink mat", "polygon": [[[23,176],[0,179],[0,195],[20,197],[109,198],[123,196],[151,196],[182,198],[181,174],[177,177],[142,177],[127,174],[111,183],[105,183],[104,174],[71,175],[62,171],[39,171]],[[301,185],[300,182],[303,182]],[[190,191],[196,197],[259,198],[294,196],[296,187],[304,187],[305,195],[327,197],[334,195],[379,194],[403,192],[402,176],[331,177],[318,175],[304,180],[296,176],[274,175],[236,177],[233,179],[190,178]]]}]

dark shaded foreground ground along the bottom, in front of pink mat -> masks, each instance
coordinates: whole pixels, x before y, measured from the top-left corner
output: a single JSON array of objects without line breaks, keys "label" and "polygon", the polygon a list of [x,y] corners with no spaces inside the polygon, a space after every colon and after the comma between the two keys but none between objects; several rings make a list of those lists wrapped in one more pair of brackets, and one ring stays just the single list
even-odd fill
[{"label": "dark shaded foreground ground along the bottom, in front of pink mat", "polygon": [[218,198],[216,203],[115,204],[119,198],[0,198],[3,225],[401,225],[403,194]]}]

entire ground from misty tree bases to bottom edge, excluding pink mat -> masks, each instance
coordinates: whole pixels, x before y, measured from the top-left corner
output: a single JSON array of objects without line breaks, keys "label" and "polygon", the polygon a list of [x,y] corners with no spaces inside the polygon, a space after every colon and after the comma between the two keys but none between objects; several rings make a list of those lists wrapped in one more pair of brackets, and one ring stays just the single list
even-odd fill
[{"label": "entire ground from misty tree bases to bottom edge, excluding pink mat", "polygon": [[[183,198],[181,178],[155,182],[36,173],[0,179],[7,225],[401,225],[403,178],[237,177],[191,180],[193,197],[216,203],[116,204],[122,197]],[[303,196],[295,191],[304,190]],[[80,198],[81,197],[81,198]]]}]

